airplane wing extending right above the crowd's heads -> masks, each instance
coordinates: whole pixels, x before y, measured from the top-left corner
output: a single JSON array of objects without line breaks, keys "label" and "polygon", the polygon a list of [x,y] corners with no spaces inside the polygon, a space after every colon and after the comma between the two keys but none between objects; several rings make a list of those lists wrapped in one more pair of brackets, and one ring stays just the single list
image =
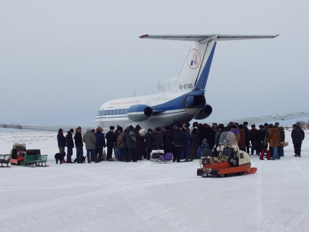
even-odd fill
[{"label": "airplane wing extending right above the crowd's heads", "polygon": [[[262,123],[262,122],[289,120],[289,119],[302,118],[302,117],[308,117],[308,116],[309,116],[309,111],[300,111],[300,112],[294,112],[294,113],[274,114],[274,115],[264,115],[264,116],[241,118],[241,119],[232,119],[229,121],[227,120],[218,121],[217,123],[222,123],[224,125],[227,125],[229,122],[243,123],[247,121],[249,125],[252,125],[252,124]],[[211,124],[211,123],[208,123],[208,124]]]}]

